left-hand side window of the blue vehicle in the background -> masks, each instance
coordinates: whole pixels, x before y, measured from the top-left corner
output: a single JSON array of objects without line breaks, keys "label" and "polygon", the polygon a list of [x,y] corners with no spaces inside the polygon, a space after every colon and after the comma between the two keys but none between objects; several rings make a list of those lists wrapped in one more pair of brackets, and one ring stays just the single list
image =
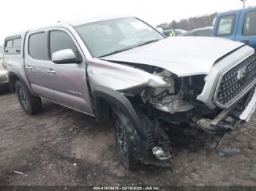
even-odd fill
[{"label": "left-hand side window of the blue vehicle in the background", "polygon": [[217,25],[217,36],[228,36],[233,34],[236,15],[227,15],[219,17]]}]

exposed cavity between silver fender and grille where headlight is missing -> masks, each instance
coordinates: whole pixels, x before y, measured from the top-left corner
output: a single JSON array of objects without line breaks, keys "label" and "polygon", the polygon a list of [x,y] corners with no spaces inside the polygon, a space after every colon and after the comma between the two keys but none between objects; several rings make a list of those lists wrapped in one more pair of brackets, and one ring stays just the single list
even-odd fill
[{"label": "exposed cavity between silver fender and grille where headlight is missing", "polygon": [[198,95],[202,90],[200,90],[200,87],[203,87],[203,85],[199,83],[203,82],[203,76],[177,79],[170,71],[159,68],[153,74],[163,79],[170,86],[144,90],[141,93],[141,98],[145,104],[149,102],[155,108],[170,114],[187,112],[195,108],[195,95]]}]

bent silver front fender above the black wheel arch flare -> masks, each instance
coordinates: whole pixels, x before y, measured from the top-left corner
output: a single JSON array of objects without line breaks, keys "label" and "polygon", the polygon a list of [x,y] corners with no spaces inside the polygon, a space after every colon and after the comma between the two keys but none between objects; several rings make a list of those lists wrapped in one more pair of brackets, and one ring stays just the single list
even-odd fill
[{"label": "bent silver front fender above the black wheel arch flare", "polygon": [[127,90],[133,87],[167,87],[161,78],[131,66],[102,61],[93,58],[87,63],[87,74],[91,89],[96,85],[110,87],[113,90]]}]

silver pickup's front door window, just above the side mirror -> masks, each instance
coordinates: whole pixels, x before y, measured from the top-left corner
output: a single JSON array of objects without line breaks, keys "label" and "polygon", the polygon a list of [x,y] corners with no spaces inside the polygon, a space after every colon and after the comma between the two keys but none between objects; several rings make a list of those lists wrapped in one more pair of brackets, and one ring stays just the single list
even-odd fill
[{"label": "silver pickup's front door window, just above the side mirror", "polygon": [[53,52],[64,49],[71,49],[75,55],[78,54],[78,48],[66,32],[50,31],[50,56],[53,55]]}]

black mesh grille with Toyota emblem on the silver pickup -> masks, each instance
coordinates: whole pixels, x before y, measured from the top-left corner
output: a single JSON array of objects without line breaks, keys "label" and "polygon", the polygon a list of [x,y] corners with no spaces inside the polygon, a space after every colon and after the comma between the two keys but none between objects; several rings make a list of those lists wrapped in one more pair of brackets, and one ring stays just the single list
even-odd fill
[{"label": "black mesh grille with Toyota emblem on the silver pickup", "polygon": [[251,55],[245,61],[222,74],[219,82],[216,104],[225,107],[236,101],[246,90],[255,84],[256,79],[256,56]]}]

